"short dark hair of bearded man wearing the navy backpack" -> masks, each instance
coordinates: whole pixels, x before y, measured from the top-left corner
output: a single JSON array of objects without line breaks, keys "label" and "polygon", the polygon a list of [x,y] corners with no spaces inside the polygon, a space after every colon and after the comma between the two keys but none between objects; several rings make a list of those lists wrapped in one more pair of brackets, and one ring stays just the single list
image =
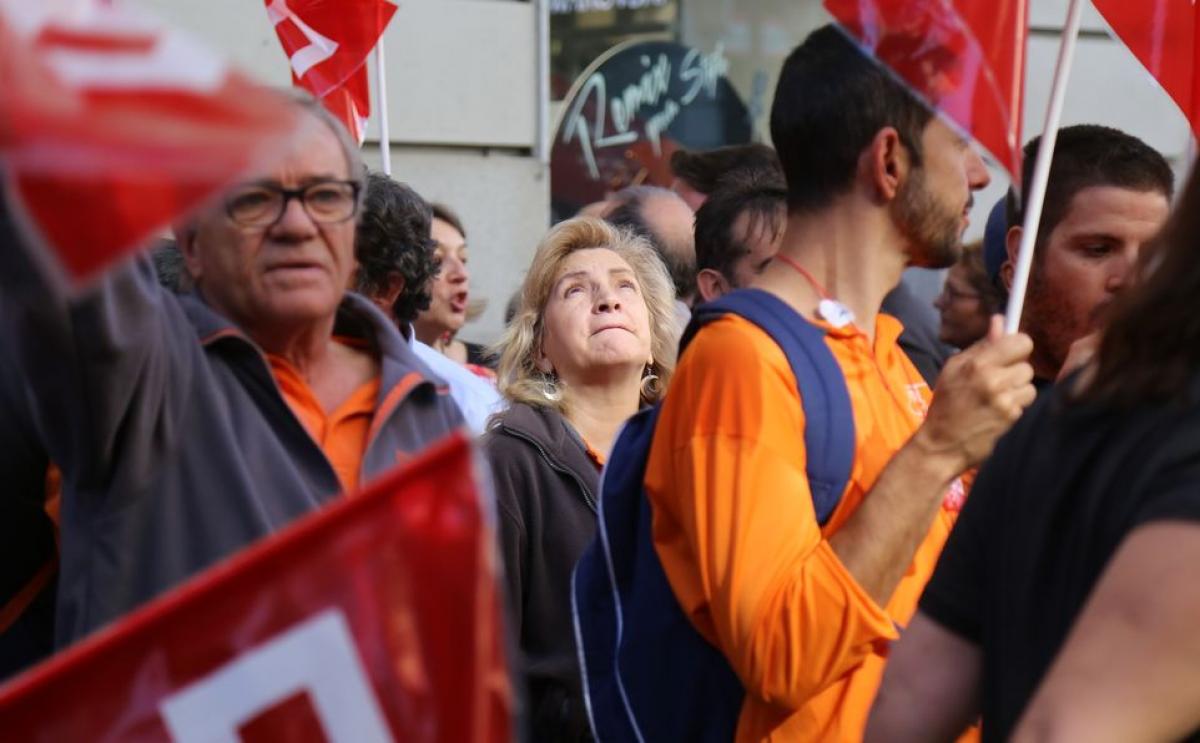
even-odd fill
[{"label": "short dark hair of bearded man wearing the navy backpack", "polygon": [[823,209],[848,191],[863,150],[888,126],[919,167],[922,134],[931,118],[841,29],[817,29],[784,62],[770,109],[788,209]]}]

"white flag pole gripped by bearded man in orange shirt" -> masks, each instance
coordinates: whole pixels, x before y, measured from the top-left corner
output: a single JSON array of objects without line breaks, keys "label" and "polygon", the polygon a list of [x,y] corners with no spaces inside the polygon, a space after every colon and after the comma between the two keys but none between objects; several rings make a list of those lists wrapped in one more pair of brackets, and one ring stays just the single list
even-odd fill
[{"label": "white flag pole gripped by bearded man in orange shirt", "polygon": [[1082,0],[1070,0],[1067,10],[1067,25],[1062,30],[1062,44],[1058,47],[1058,62],[1050,89],[1050,106],[1046,109],[1046,122],[1042,130],[1042,142],[1033,166],[1033,180],[1030,192],[1021,194],[1025,199],[1025,223],[1021,229],[1021,245],[1016,253],[1016,270],[1013,275],[1013,289],[1008,296],[1008,310],[1004,313],[1004,332],[1016,332],[1021,325],[1021,310],[1025,306],[1025,289],[1030,281],[1030,269],[1033,265],[1033,244],[1037,241],[1038,226],[1042,223],[1042,205],[1045,202],[1046,182],[1050,180],[1050,162],[1054,158],[1055,143],[1058,140],[1058,122],[1062,121],[1062,104],[1067,97],[1067,79],[1070,77],[1070,65],[1075,56],[1075,41],[1079,37],[1079,24],[1084,14]]}]

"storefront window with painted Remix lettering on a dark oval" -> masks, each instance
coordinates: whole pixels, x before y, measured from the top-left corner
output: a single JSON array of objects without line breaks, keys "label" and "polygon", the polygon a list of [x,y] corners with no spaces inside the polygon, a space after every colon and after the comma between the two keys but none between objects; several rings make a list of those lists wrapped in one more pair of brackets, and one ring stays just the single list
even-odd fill
[{"label": "storefront window with painted Remix lettering on a dark oval", "polygon": [[779,68],[826,20],[817,0],[551,0],[554,216],[670,185],[677,149],[769,140]]}]

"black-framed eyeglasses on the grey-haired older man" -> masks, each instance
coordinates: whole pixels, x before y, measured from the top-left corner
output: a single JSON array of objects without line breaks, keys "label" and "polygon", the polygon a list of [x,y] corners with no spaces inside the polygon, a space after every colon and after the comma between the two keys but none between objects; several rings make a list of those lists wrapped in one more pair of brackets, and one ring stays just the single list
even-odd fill
[{"label": "black-framed eyeglasses on the grey-haired older man", "polygon": [[242,227],[270,227],[280,221],[292,199],[299,199],[313,222],[344,222],[359,210],[359,184],[353,180],[322,180],[304,188],[247,184],[234,188],[226,198],[226,214]]}]

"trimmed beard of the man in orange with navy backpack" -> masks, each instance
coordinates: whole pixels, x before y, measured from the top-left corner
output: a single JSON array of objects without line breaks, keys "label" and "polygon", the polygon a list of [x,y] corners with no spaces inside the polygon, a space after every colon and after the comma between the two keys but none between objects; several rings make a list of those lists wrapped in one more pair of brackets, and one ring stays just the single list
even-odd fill
[{"label": "trimmed beard of the man in orange with navy backpack", "polygon": [[962,253],[961,212],[937,200],[925,185],[922,168],[912,170],[892,209],[896,224],[912,246],[912,265],[926,269],[954,265]]}]

